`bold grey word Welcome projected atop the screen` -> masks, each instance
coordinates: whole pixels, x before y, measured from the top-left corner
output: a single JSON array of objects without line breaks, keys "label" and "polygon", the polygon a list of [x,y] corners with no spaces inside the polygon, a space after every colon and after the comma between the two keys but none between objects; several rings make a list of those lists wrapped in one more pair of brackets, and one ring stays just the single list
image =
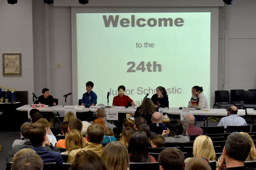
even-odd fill
[{"label": "bold grey word Welcome projected atop the screen", "polygon": [[147,21],[145,18],[138,18],[135,19],[135,15],[131,15],[131,19],[129,18],[122,18],[119,21],[119,15],[102,15],[105,27],[109,27],[112,24],[113,27],[117,27],[118,22],[121,27],[135,27],[135,23],[138,27],[145,27],[148,25],[149,27],[172,27],[173,24],[176,27],[181,27],[184,25],[184,20],[182,18],[175,18],[173,21],[172,18],[149,18]]}]

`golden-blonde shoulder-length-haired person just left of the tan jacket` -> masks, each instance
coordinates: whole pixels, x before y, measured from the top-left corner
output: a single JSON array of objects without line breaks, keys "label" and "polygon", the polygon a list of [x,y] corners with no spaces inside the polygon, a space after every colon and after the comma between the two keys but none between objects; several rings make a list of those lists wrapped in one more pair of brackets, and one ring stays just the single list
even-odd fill
[{"label": "golden-blonde shoulder-length-haired person just left of the tan jacket", "polygon": [[85,147],[85,140],[81,132],[76,129],[73,129],[66,133],[65,136],[65,147],[67,151],[62,152],[61,154],[68,154],[74,149],[80,149]]}]

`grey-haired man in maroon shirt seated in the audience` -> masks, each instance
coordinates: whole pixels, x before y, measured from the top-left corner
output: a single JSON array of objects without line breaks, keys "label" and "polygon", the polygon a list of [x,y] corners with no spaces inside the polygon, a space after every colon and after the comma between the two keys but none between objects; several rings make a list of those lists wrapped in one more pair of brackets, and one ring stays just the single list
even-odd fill
[{"label": "grey-haired man in maroon shirt seated in the audience", "polygon": [[193,114],[186,114],[184,120],[188,122],[188,135],[203,135],[203,130],[199,127],[195,127],[195,117]]}]

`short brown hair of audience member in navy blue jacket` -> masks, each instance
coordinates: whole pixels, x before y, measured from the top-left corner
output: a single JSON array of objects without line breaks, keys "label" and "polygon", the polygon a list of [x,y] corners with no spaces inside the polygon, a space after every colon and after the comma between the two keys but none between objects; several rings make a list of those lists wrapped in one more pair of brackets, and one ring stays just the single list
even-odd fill
[{"label": "short brown hair of audience member in navy blue jacket", "polygon": [[42,146],[46,135],[46,127],[42,123],[33,123],[28,127],[28,139],[33,146]]}]

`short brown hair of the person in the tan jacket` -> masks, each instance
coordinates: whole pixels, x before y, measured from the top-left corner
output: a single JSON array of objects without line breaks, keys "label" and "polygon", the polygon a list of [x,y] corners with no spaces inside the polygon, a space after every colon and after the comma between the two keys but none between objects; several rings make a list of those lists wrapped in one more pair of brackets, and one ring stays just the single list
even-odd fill
[{"label": "short brown hair of the person in the tan jacket", "polygon": [[104,138],[105,130],[99,124],[92,124],[88,126],[87,136],[89,142],[100,144]]}]

